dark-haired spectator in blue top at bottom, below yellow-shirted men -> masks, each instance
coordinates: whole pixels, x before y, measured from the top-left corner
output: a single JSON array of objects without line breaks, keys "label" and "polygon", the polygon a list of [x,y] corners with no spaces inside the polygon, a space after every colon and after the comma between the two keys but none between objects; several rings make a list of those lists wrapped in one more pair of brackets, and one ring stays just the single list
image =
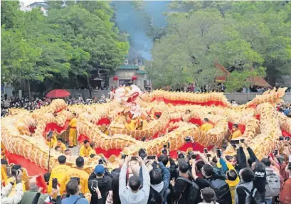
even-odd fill
[{"label": "dark-haired spectator in blue top at bottom, below yellow-shirted men", "polygon": [[71,179],[65,189],[70,196],[63,199],[62,204],[72,204],[77,202],[78,204],[89,204],[88,200],[80,197],[80,188],[76,179]]}]

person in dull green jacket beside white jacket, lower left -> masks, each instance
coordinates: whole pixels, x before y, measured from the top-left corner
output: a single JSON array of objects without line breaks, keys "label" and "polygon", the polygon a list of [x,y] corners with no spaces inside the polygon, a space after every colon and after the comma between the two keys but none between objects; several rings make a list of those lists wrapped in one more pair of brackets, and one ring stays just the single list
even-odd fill
[{"label": "person in dull green jacket beside white jacket, lower left", "polygon": [[[36,196],[36,193],[41,193],[41,192],[38,192],[39,188],[36,185],[36,177],[33,177],[31,178],[31,180],[28,181],[28,187],[29,187],[29,190],[26,190],[26,192],[24,192],[23,198],[19,204],[32,203],[32,200]],[[46,197],[48,197],[47,194],[41,193],[39,200],[45,200]]]}]

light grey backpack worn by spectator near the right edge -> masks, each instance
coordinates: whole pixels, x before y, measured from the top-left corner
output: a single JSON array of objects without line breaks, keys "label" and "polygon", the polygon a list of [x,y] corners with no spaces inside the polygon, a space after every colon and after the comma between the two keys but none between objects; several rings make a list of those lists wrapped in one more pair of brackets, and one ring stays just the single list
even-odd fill
[{"label": "light grey backpack worn by spectator near the right edge", "polygon": [[266,198],[273,198],[279,195],[280,193],[280,177],[277,176],[275,173],[267,174],[266,178],[266,186],[265,186],[265,197]]}]

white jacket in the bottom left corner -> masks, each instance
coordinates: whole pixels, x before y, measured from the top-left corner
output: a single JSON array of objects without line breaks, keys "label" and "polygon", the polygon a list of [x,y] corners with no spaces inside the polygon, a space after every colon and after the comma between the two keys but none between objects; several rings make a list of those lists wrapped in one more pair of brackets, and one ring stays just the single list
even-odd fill
[{"label": "white jacket in the bottom left corner", "polygon": [[8,183],[7,186],[1,189],[1,204],[18,204],[22,200],[23,197],[23,188],[22,183],[16,184],[16,193],[12,197],[8,197],[9,193],[11,192],[13,186],[11,183]]}]

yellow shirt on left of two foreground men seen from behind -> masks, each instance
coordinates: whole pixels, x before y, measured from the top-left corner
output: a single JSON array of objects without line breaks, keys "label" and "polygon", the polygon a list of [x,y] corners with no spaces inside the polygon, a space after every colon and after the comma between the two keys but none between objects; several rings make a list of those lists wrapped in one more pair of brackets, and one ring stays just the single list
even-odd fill
[{"label": "yellow shirt on left of two foreground men seen from behind", "polygon": [[65,164],[59,164],[55,166],[51,171],[50,181],[48,181],[48,193],[51,193],[53,189],[53,178],[58,178],[58,183],[60,184],[60,195],[63,195],[65,191],[65,176],[70,171],[70,166]]}]

